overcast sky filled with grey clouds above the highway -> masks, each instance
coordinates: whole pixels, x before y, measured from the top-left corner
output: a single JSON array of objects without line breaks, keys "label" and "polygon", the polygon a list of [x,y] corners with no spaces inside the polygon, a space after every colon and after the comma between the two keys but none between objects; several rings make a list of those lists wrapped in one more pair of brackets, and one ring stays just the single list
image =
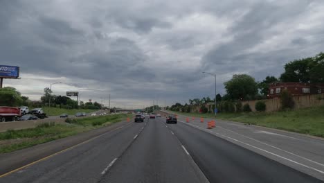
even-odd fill
[{"label": "overcast sky filled with grey clouds above the highway", "polygon": [[324,51],[324,1],[1,0],[4,80],[39,100],[79,91],[116,107],[184,103],[213,96],[235,73],[260,81],[283,65]]}]

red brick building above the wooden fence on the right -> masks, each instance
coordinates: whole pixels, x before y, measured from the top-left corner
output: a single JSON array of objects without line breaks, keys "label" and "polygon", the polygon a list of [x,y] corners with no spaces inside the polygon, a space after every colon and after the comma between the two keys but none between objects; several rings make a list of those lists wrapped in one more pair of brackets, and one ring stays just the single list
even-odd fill
[{"label": "red brick building above the wooden fence on the right", "polygon": [[324,93],[324,83],[273,82],[269,85],[269,98],[280,98],[280,92],[287,89],[293,96]]}]

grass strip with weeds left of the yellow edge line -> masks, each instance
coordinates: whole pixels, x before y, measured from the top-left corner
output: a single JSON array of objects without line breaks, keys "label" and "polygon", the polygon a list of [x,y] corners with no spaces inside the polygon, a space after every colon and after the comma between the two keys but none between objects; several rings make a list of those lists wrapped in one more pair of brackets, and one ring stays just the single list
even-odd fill
[{"label": "grass strip with weeds left of the yellow edge line", "polygon": [[106,125],[111,125],[131,117],[132,114],[114,114],[94,116],[82,119],[68,119],[64,125],[44,123],[36,128],[8,130],[0,133],[0,153],[10,153],[22,148],[35,146],[56,139],[62,139],[81,132],[87,132]]}]

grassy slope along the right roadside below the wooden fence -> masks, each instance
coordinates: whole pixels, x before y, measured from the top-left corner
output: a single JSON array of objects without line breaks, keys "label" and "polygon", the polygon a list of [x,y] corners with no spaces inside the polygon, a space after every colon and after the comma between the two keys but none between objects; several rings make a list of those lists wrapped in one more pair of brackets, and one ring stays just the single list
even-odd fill
[{"label": "grassy slope along the right roadside below the wooden fence", "polygon": [[268,128],[324,137],[324,106],[280,112],[219,113],[216,117],[214,114],[173,113],[249,123]]}]

